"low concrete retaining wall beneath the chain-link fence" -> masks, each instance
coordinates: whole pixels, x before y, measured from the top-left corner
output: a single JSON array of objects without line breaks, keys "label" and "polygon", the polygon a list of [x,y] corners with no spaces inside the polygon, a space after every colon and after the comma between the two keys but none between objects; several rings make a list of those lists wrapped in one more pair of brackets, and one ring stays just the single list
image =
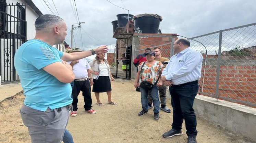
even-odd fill
[{"label": "low concrete retaining wall beneath the chain-link fence", "polygon": [[[169,90],[167,97],[171,98]],[[256,109],[229,101],[197,95],[193,106],[197,115],[256,142]]]}]

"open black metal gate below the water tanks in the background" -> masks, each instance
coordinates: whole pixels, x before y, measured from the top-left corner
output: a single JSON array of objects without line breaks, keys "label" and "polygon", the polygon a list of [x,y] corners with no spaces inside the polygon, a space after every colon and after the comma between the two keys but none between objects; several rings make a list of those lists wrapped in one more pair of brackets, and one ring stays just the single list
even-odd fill
[{"label": "open black metal gate below the water tanks in the background", "polygon": [[131,79],[131,52],[132,46],[117,48],[117,78]]}]

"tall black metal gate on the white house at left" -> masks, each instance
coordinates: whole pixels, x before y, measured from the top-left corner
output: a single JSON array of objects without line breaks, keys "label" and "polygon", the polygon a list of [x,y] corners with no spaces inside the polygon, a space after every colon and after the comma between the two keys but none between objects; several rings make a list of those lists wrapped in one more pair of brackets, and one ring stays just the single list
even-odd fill
[{"label": "tall black metal gate on the white house at left", "polygon": [[26,42],[26,6],[7,5],[0,1],[0,75],[2,82],[19,80],[14,67],[14,54]]}]

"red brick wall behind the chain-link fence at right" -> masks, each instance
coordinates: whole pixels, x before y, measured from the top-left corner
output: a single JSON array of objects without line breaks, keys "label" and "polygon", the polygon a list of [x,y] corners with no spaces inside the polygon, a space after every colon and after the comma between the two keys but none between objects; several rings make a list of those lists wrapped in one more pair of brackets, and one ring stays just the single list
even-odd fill
[{"label": "red brick wall behind the chain-link fence at right", "polygon": [[[230,62],[231,59],[233,59],[233,63]],[[250,61],[251,64],[245,61]],[[219,98],[226,97],[256,104],[255,62],[256,60],[253,57],[222,57],[219,74]],[[209,55],[207,57],[205,70],[203,93],[215,95],[217,77],[216,55]],[[202,67],[202,77],[199,81],[200,88],[202,88],[203,73],[204,62]],[[241,102],[236,103],[243,104]]]}]

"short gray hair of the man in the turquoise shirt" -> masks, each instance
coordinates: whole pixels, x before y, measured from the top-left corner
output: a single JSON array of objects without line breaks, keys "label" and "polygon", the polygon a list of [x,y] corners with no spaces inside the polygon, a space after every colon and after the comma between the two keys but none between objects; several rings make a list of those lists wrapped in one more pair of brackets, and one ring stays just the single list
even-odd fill
[{"label": "short gray hair of the man in the turquoise shirt", "polygon": [[41,15],[35,21],[36,31],[44,30],[49,26],[58,25],[62,21],[64,20],[56,15],[51,15],[51,14]]}]

